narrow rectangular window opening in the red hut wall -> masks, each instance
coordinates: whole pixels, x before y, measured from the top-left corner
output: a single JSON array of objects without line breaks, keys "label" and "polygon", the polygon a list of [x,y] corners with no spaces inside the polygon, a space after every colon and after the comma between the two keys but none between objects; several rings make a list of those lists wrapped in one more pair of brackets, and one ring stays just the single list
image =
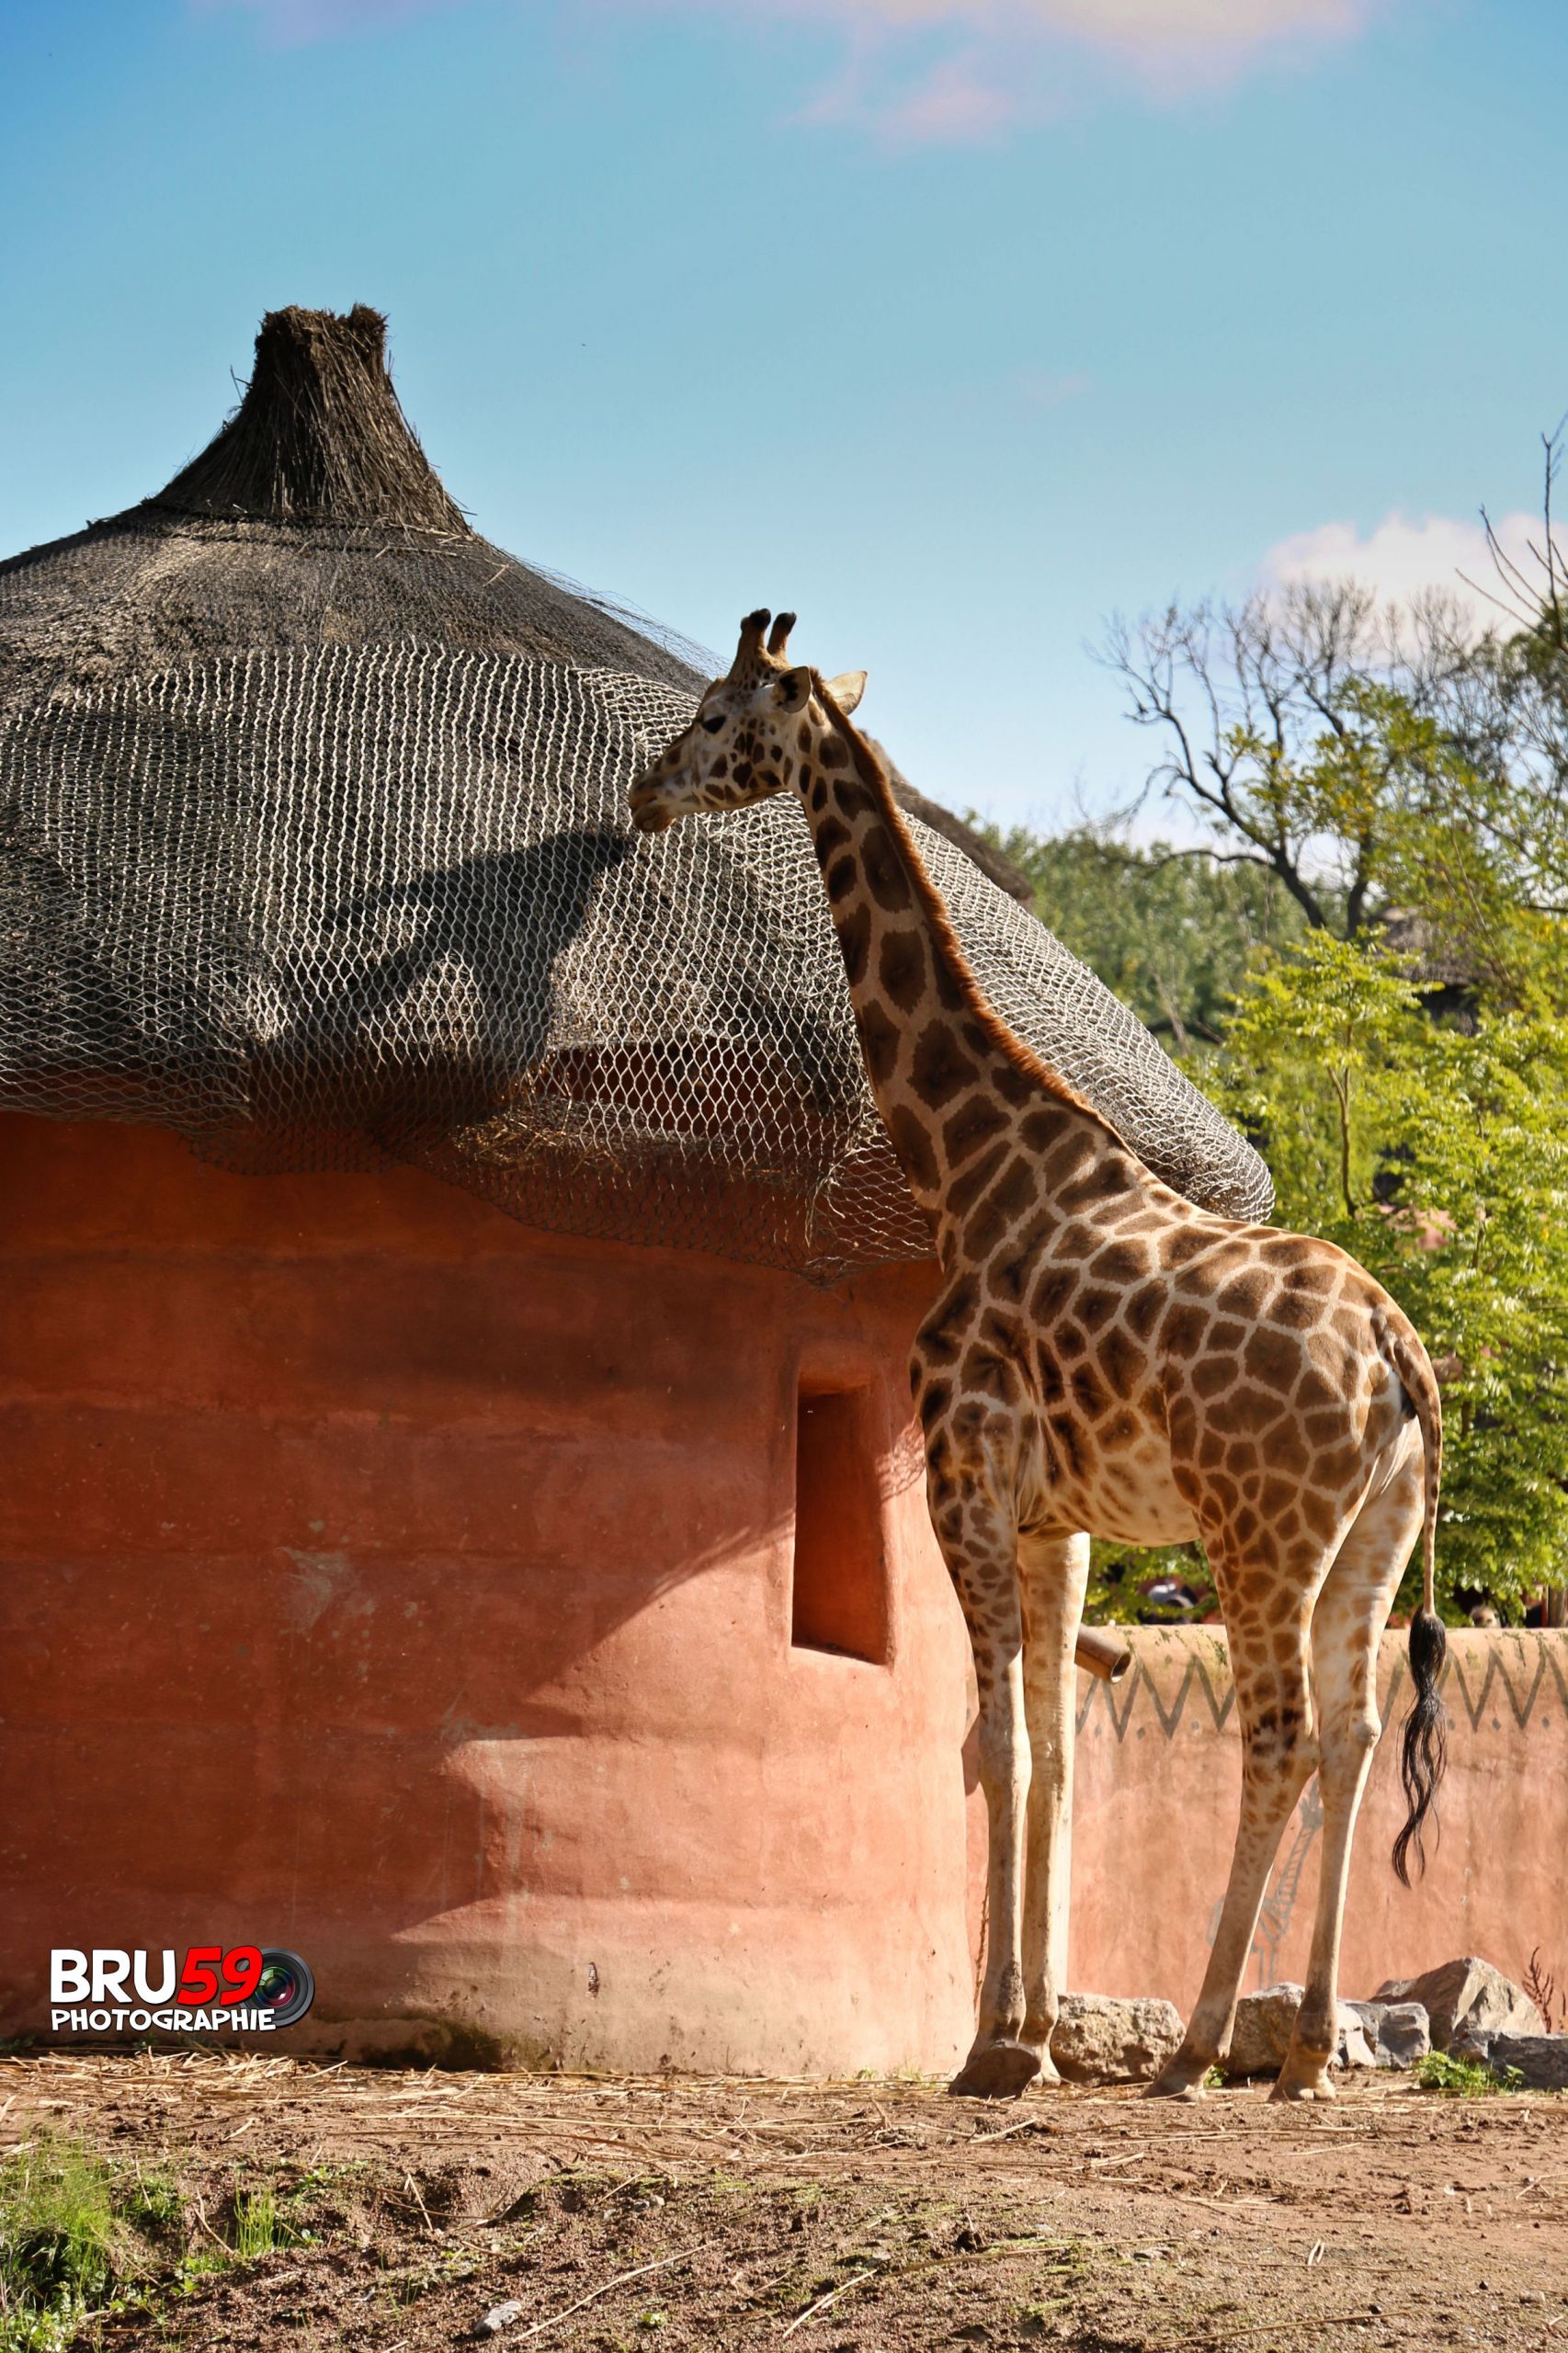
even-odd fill
[{"label": "narrow rectangular window opening in the red hut wall", "polygon": [[869,1388],[808,1388],[796,1400],[796,1649],[888,1664],[888,1546]]}]

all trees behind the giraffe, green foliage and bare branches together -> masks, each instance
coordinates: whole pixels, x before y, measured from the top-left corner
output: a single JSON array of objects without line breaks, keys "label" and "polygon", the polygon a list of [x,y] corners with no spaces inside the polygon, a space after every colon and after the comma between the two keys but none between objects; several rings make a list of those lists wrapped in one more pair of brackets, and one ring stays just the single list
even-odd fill
[{"label": "all trees behind the giraffe, green foliage and bare branches together", "polygon": [[[1278,1221],[1406,1308],[1446,1417],[1439,1584],[1568,1581],[1568,567],[1509,633],[1358,588],[1168,612],[1109,659],[1201,840],[1012,833],[1041,918],[1257,1141]],[[1201,1553],[1097,1544],[1090,1609],[1161,1617]],[[1415,1593],[1415,1565],[1403,1600]]]}]

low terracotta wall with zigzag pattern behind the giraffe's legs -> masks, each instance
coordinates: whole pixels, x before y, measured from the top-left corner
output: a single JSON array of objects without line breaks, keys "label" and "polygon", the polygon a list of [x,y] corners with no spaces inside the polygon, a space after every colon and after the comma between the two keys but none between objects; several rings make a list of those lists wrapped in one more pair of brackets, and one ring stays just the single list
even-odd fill
[{"label": "low terracotta wall with zigzag pattern behind the giraffe's legs", "polygon": [[[1095,1993],[1163,1993],[1182,2017],[1203,1981],[1241,1795],[1224,1638],[1142,1628],[1123,1685],[1078,1678],[1069,1974]],[[1448,1638],[1441,1842],[1403,1889],[1389,1847],[1406,1819],[1396,1727],[1410,1706],[1406,1635],[1384,1633],[1384,1739],[1373,1758],[1344,1913],[1342,1991],[1368,1995],[1455,1953],[1523,1977],[1533,1946],[1568,1981],[1568,1633]],[[1307,1974],[1318,1873],[1316,1784],[1290,1821],[1248,1984]],[[1300,1871],[1300,1889],[1297,1889]]]}]

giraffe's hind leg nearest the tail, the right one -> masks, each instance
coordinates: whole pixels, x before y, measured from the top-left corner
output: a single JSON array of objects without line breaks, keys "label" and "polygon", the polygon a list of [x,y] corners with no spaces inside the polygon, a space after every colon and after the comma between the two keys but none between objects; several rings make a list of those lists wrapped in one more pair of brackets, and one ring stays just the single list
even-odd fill
[{"label": "giraffe's hind leg nearest the tail, the right one", "polygon": [[1356,1814],[1382,1729],[1377,1635],[1422,1525],[1422,1449],[1410,1424],[1391,1473],[1373,1487],[1311,1617],[1311,1666],[1323,1762],[1323,1849],[1307,1993],[1274,2099],[1333,2099],[1328,2066],[1340,2040],[1340,1937]]}]

